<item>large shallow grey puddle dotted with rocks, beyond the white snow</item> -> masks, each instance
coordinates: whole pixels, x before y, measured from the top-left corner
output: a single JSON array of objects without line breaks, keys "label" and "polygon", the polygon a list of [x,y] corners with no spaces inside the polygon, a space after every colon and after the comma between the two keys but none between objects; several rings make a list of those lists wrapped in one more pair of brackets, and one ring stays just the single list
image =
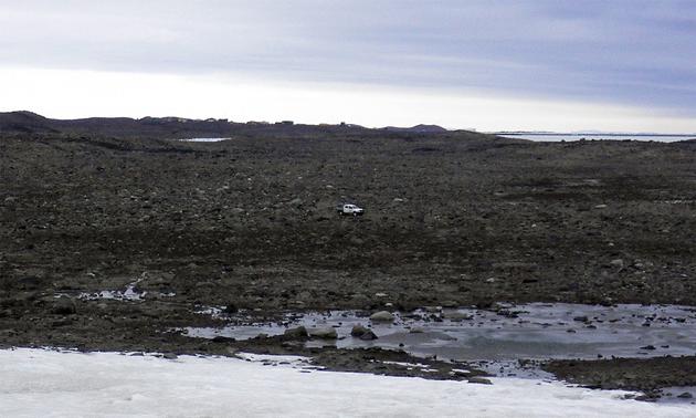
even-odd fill
[{"label": "large shallow grey puddle dotted with rocks, beyond the white snow", "polygon": [[[378,339],[351,337],[350,331],[358,324],[370,327]],[[335,327],[339,348],[401,348],[419,356],[466,362],[696,354],[696,312],[673,305],[531,303],[509,305],[497,313],[468,309],[415,311],[397,314],[396,321],[387,324],[372,323],[355,312],[334,311],[287,315],[282,323],[189,327],[183,332],[192,337],[246,339],[262,333],[280,335],[299,325]]]}]

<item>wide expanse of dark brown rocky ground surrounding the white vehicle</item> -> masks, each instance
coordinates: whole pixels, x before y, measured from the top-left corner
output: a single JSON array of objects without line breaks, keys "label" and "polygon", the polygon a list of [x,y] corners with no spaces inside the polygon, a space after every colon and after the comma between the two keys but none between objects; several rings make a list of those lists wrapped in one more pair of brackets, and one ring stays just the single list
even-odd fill
[{"label": "wide expanse of dark brown rocky ground surrounding the white vehicle", "polygon": [[0,344],[229,352],[168,332],[220,324],[201,305],[696,305],[696,144],[232,136],[0,134]]}]

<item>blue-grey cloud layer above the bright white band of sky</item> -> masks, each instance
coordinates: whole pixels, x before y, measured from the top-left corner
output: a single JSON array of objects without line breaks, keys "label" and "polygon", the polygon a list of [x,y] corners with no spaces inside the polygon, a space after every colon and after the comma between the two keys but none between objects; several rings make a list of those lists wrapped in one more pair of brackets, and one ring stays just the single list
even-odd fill
[{"label": "blue-grey cloud layer above the bright white band of sky", "polygon": [[6,66],[226,74],[696,117],[696,2],[0,2]]}]

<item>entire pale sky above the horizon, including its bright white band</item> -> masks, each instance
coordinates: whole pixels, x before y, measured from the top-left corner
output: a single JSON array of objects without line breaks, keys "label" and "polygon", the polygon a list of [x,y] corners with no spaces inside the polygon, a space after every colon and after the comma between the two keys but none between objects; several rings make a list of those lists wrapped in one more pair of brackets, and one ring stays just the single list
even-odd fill
[{"label": "entire pale sky above the horizon, including its bright white band", "polygon": [[0,111],[696,132],[694,0],[0,0]]}]

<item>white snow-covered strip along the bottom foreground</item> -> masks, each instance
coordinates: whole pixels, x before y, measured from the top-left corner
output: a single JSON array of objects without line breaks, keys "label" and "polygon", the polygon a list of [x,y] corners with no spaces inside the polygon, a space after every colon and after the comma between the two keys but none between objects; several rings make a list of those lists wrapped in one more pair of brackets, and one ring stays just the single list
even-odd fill
[{"label": "white snow-covered strip along the bottom foreground", "polygon": [[[3,417],[693,417],[631,393],[493,378],[493,385],[295,368],[302,358],[176,360],[0,351]],[[272,362],[277,364],[273,367]]]}]

